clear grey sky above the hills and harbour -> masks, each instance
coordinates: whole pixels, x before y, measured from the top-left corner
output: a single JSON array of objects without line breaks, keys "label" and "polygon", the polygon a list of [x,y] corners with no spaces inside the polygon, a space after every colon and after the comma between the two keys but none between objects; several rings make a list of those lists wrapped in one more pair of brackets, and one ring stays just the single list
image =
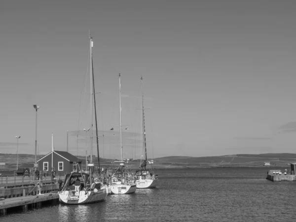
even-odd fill
[{"label": "clear grey sky above the hills and harbour", "polygon": [[295,11],[293,0],[4,0],[0,153],[21,136],[19,153],[35,154],[34,104],[38,154],[52,133],[66,151],[67,131],[69,152],[90,153],[89,31],[101,157],[120,159],[118,73],[124,158],[143,155],[141,75],[148,158],[295,153]]}]

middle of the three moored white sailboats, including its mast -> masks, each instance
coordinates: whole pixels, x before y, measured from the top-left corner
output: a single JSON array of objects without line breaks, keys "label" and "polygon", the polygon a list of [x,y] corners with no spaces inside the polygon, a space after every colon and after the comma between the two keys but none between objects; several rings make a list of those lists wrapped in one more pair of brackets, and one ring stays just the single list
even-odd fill
[{"label": "middle of the three moored white sailboats, including its mast", "polygon": [[120,74],[119,76],[119,137],[120,137],[120,161],[114,161],[114,163],[119,163],[118,168],[111,176],[111,184],[109,186],[109,191],[111,194],[128,194],[136,192],[136,184],[134,179],[131,177],[126,167],[124,166],[125,161],[122,159],[122,135],[121,135],[121,84],[120,84]]}]

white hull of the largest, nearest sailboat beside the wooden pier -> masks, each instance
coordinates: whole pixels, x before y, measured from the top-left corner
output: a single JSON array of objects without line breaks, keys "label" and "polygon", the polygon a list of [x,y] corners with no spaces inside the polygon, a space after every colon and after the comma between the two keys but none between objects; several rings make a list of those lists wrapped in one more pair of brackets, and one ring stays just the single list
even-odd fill
[{"label": "white hull of the largest, nearest sailboat beside the wooden pier", "polygon": [[[74,194],[74,195],[73,195]],[[105,201],[107,197],[106,188],[99,189],[98,192],[84,190],[79,193],[73,193],[71,191],[60,191],[59,192],[60,202],[64,204],[88,204],[100,201]]]}]

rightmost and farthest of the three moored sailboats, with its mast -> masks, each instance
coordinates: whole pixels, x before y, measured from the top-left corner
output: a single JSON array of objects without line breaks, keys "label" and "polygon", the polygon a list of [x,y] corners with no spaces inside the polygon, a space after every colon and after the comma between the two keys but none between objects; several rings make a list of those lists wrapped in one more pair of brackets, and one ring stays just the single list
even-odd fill
[{"label": "rightmost and farthest of the three moored sailboats, with its mast", "polygon": [[[141,76],[141,88],[142,88],[142,131],[143,131],[143,147],[145,150],[145,159],[140,166],[140,170],[135,172],[137,177],[137,188],[154,188],[156,187],[158,176],[153,172],[153,160],[147,163],[147,148],[146,148],[146,131],[145,131],[145,115],[144,115],[144,93],[143,93],[143,77]],[[147,167],[147,164],[151,164],[151,168]]]}]

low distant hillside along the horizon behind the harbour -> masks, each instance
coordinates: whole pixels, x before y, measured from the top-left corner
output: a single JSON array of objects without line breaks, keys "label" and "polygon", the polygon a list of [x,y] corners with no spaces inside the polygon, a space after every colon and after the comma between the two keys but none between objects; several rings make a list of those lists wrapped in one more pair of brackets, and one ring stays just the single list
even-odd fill
[{"label": "low distant hillside along the horizon behind the harbour", "polygon": [[[37,159],[44,155],[38,156]],[[79,159],[85,160],[85,156],[78,156]],[[98,165],[97,157],[93,158],[95,165]],[[150,160],[150,159],[149,159]],[[166,156],[154,158],[155,168],[171,168],[171,167],[251,167],[263,166],[264,162],[269,162],[272,166],[287,166],[291,162],[296,162],[296,153],[262,153],[262,154],[236,154],[224,156]],[[111,164],[113,159],[100,158],[100,165],[103,167],[114,167]],[[0,170],[16,169],[16,154],[0,153],[0,162],[4,162],[5,166]],[[19,167],[33,167],[35,155],[19,154]],[[83,164],[85,161],[83,161]],[[129,161],[129,167],[138,169],[140,160]],[[1,166],[0,166],[1,167]]]}]

